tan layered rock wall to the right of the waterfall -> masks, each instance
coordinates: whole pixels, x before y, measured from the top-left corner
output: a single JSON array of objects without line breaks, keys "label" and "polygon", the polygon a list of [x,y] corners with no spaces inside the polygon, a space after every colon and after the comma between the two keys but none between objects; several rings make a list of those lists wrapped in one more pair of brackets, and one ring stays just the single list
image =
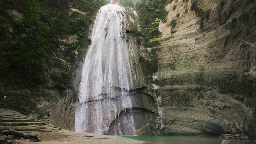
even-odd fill
[{"label": "tan layered rock wall to the right of the waterfall", "polygon": [[[201,0],[197,6],[210,10],[202,29],[190,0],[166,5],[167,22],[159,24],[162,36],[153,39],[161,43],[155,47],[158,72],[153,83],[163,111],[164,134],[255,136],[256,17],[245,14],[255,5],[255,1],[226,0],[219,8],[218,0]],[[242,11],[248,23],[243,22]]]}]

